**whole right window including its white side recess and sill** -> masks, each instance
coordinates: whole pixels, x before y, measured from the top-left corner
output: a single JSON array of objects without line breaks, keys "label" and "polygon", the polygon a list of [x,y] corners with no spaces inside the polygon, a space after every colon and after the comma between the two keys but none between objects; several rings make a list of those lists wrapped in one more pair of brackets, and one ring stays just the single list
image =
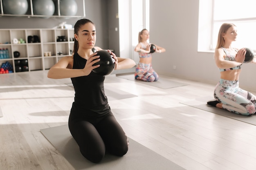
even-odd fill
[{"label": "whole right window including its white side recess and sill", "polygon": [[256,50],[256,1],[200,0],[199,5],[198,51],[215,49],[218,31],[225,22],[237,26],[235,47]]}]

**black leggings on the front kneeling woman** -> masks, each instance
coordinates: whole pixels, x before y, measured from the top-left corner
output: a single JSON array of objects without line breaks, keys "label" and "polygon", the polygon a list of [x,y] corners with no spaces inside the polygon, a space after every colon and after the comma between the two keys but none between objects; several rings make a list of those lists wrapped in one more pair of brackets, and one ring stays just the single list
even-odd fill
[{"label": "black leggings on the front kneeling woman", "polygon": [[100,162],[106,150],[120,157],[128,151],[127,136],[112,114],[97,124],[83,119],[72,119],[68,125],[82,155],[89,161]]}]

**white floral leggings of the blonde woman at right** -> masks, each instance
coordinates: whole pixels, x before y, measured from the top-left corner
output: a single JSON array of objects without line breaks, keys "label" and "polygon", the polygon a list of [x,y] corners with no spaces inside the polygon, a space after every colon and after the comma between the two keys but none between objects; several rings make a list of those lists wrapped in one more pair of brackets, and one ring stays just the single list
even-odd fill
[{"label": "white floral leggings of the blonde woman at right", "polygon": [[214,90],[214,98],[222,108],[240,115],[253,115],[256,111],[256,96],[239,88],[239,81],[220,79]]}]

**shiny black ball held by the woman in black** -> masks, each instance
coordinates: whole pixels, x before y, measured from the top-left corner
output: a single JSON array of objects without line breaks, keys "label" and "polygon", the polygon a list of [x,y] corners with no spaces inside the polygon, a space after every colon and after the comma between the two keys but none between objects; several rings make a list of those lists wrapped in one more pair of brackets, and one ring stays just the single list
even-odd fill
[{"label": "shiny black ball held by the woman in black", "polygon": [[100,65],[98,68],[94,68],[92,71],[96,73],[97,75],[109,75],[115,70],[115,59],[112,58],[113,55],[111,55],[108,51],[100,50],[97,51],[97,54],[99,55],[100,61],[93,64],[93,66]]}]

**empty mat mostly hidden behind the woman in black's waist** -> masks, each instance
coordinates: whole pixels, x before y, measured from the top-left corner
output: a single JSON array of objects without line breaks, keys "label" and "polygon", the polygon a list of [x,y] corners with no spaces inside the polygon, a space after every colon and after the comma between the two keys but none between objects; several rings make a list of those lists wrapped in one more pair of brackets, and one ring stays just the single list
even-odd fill
[{"label": "empty mat mostly hidden behind the woman in black's waist", "polygon": [[[68,86],[74,88],[73,84],[67,84]],[[130,97],[137,97],[137,95],[133,95],[131,93],[128,93],[126,91],[119,90],[117,88],[113,88],[111,86],[104,86],[105,94],[108,97],[108,100],[118,100],[118,99],[126,99]]]}]

